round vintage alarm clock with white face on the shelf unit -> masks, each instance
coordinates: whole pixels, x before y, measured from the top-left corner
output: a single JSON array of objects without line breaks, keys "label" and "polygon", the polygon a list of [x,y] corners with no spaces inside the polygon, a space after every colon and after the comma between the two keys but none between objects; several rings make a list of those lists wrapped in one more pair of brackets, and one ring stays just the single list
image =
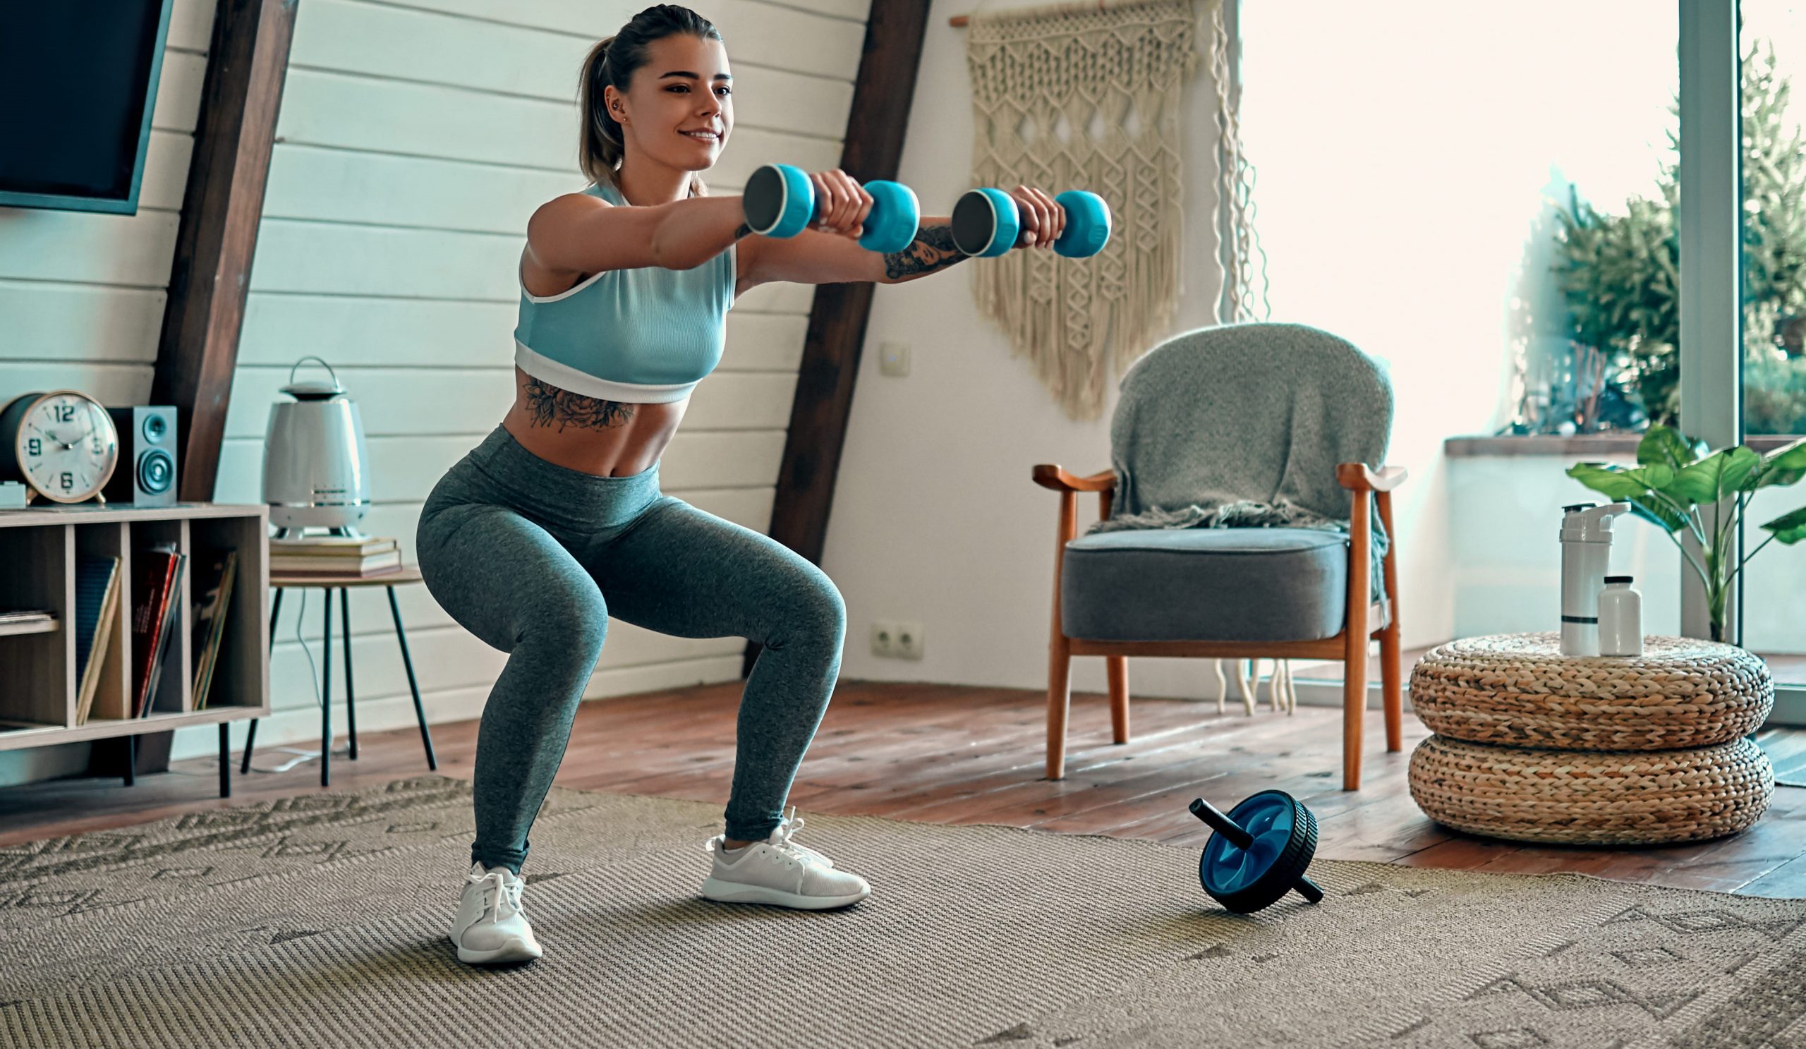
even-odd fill
[{"label": "round vintage alarm clock with white face on the shelf unit", "polygon": [[31,495],[51,502],[99,498],[117,462],[112,417],[87,394],[25,394],[0,410],[0,480],[23,480]]}]

